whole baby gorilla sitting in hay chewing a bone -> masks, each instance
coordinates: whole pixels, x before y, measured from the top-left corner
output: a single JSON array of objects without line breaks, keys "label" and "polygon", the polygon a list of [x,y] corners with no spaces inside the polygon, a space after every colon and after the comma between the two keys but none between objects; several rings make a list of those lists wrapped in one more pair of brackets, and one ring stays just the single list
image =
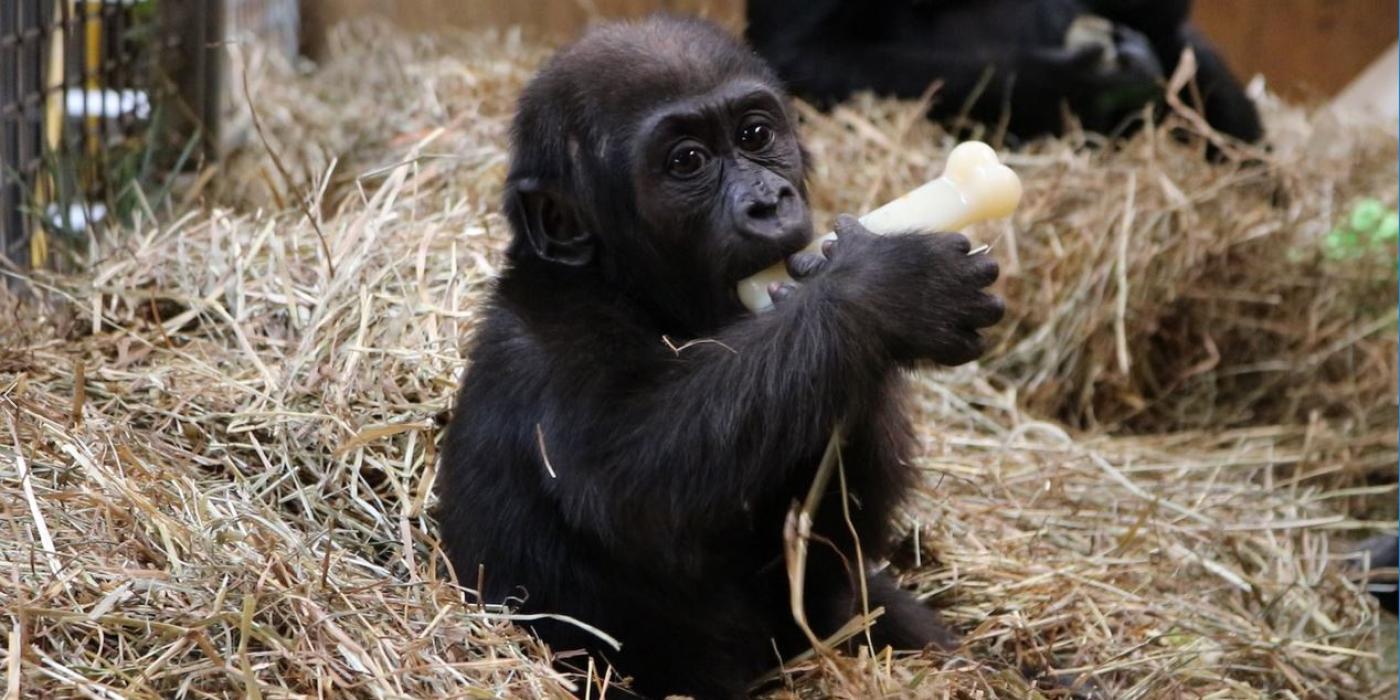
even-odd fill
[{"label": "whole baby gorilla sitting in hay chewing a bone", "polygon": [[[805,648],[783,525],[843,421],[865,560],[916,483],[904,370],[967,363],[1002,315],[956,234],[812,238],[806,154],[770,69],[714,25],[592,29],[525,88],[511,136],[507,269],[442,449],[438,518],[458,577],[540,619],[645,696],[741,697]],[[791,256],[791,258],[790,258]],[[776,262],[801,286],[745,311]],[[858,612],[855,543],[826,494],[806,578],[818,634]],[[479,584],[480,581],[480,584]],[[937,613],[869,574],[878,644],[952,645]]]}]

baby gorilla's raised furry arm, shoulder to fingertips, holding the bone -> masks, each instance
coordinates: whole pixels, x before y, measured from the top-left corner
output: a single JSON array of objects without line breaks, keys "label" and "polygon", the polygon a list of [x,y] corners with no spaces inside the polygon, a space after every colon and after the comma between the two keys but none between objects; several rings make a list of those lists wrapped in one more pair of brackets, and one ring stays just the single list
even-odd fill
[{"label": "baby gorilla's raised furry arm, shoulder to fingertips, holding the bone", "polygon": [[515,423],[539,426],[531,452],[553,462],[542,483],[574,528],[623,554],[700,566],[680,557],[715,552],[692,545],[742,533],[801,493],[836,424],[888,395],[897,367],[980,354],[977,329],[1001,318],[981,291],[995,262],[967,256],[960,235],[853,227],[837,225],[830,263],[773,309],[675,350],[645,323],[615,333],[584,308],[508,335],[553,343],[540,413]]}]

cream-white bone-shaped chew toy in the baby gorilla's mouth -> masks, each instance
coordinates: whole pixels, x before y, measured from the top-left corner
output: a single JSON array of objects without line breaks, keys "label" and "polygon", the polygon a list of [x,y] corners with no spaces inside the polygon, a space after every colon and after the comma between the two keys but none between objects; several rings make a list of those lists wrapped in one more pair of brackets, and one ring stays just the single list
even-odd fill
[{"label": "cream-white bone-shaped chew toy in the baby gorilla's mouth", "polygon": [[[981,141],[965,141],[948,154],[944,174],[913,192],[861,217],[861,225],[874,234],[956,231],[959,228],[1011,216],[1021,203],[1021,178],[997,160],[997,151]],[[826,234],[806,252],[819,253],[822,242],[836,238]],[[790,283],[784,263],[777,263],[739,281],[739,301],[749,311],[773,305],[769,286]]]}]

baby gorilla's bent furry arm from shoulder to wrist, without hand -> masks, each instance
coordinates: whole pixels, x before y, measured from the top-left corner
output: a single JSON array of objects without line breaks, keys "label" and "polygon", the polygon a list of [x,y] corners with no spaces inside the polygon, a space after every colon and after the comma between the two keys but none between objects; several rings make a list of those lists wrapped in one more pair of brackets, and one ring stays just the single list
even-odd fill
[{"label": "baby gorilla's bent furry arm from shoulder to wrist, without hand", "polygon": [[690,570],[717,533],[794,491],[795,472],[815,470],[841,416],[892,368],[874,323],[815,287],[714,337],[669,339],[676,350],[643,328],[605,337],[577,315],[575,340],[547,350],[543,447],[528,441],[552,461],[557,476],[542,483],[571,526],[622,556],[675,557],[648,567]]}]

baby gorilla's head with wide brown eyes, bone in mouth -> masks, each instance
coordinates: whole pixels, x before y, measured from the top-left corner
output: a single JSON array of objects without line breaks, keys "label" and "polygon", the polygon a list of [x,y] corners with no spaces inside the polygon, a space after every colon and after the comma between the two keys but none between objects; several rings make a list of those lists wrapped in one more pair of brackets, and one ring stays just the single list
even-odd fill
[{"label": "baby gorilla's head with wide brown eyes, bone in mouth", "polygon": [[708,22],[591,31],[526,85],[511,146],[511,260],[591,269],[678,330],[742,314],[735,283],[812,235],[787,95]]}]

